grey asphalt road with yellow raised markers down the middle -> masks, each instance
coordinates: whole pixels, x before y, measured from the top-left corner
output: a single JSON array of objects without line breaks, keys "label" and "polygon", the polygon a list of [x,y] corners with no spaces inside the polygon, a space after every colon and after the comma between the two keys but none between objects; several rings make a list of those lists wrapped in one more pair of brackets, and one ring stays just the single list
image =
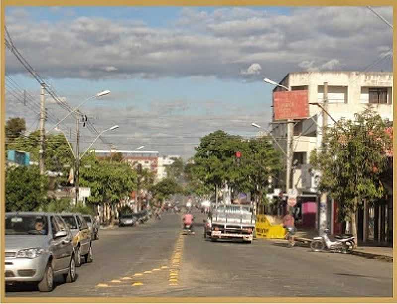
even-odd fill
[{"label": "grey asphalt road with yellow raised markers down the middle", "polygon": [[195,235],[183,235],[182,214],[164,213],[136,227],[100,230],[94,261],[74,283],[57,279],[40,293],[6,288],[6,297],[392,297],[392,263],[285,241],[211,242],[205,215],[194,211]]}]

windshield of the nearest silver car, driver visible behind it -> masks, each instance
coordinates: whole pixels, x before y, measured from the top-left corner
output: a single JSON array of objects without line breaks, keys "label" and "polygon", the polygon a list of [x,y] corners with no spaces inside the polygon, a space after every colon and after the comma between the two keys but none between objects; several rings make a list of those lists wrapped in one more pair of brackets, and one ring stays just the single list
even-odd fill
[{"label": "windshield of the nearest silver car, driver visible behind it", "polygon": [[47,235],[45,215],[5,216],[5,235]]}]

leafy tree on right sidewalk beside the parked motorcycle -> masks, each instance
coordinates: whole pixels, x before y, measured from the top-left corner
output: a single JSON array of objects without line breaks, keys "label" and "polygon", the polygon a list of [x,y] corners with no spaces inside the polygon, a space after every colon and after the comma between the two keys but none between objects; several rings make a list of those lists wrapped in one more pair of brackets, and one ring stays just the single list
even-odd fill
[{"label": "leafy tree on right sidewalk beside the parked motorcycle", "polygon": [[321,149],[311,153],[310,162],[321,174],[319,190],[338,201],[339,218],[351,222],[356,241],[359,204],[363,199],[376,203],[386,194],[382,176],[392,149],[386,123],[370,109],[354,120],[341,119],[326,129]]}]

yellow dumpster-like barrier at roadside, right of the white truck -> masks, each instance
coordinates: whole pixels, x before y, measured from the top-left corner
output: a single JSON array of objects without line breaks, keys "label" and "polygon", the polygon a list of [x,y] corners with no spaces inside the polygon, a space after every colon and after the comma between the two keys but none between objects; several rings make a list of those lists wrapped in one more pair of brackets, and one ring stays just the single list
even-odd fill
[{"label": "yellow dumpster-like barrier at roadside, right of the white truck", "polygon": [[282,217],[264,214],[257,215],[255,232],[257,238],[284,238],[286,234],[282,225]]}]

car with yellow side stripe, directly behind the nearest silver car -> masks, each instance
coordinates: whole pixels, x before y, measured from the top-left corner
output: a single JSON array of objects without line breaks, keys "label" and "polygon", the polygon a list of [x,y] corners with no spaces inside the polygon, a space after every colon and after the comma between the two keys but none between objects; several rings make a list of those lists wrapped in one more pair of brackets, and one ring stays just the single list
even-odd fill
[{"label": "car with yellow side stripe, directly behind the nearest silver car", "polygon": [[76,266],[81,265],[81,258],[84,257],[86,263],[93,261],[91,231],[87,222],[79,213],[61,213],[59,214],[69,226],[73,235],[73,247],[76,254]]}]

